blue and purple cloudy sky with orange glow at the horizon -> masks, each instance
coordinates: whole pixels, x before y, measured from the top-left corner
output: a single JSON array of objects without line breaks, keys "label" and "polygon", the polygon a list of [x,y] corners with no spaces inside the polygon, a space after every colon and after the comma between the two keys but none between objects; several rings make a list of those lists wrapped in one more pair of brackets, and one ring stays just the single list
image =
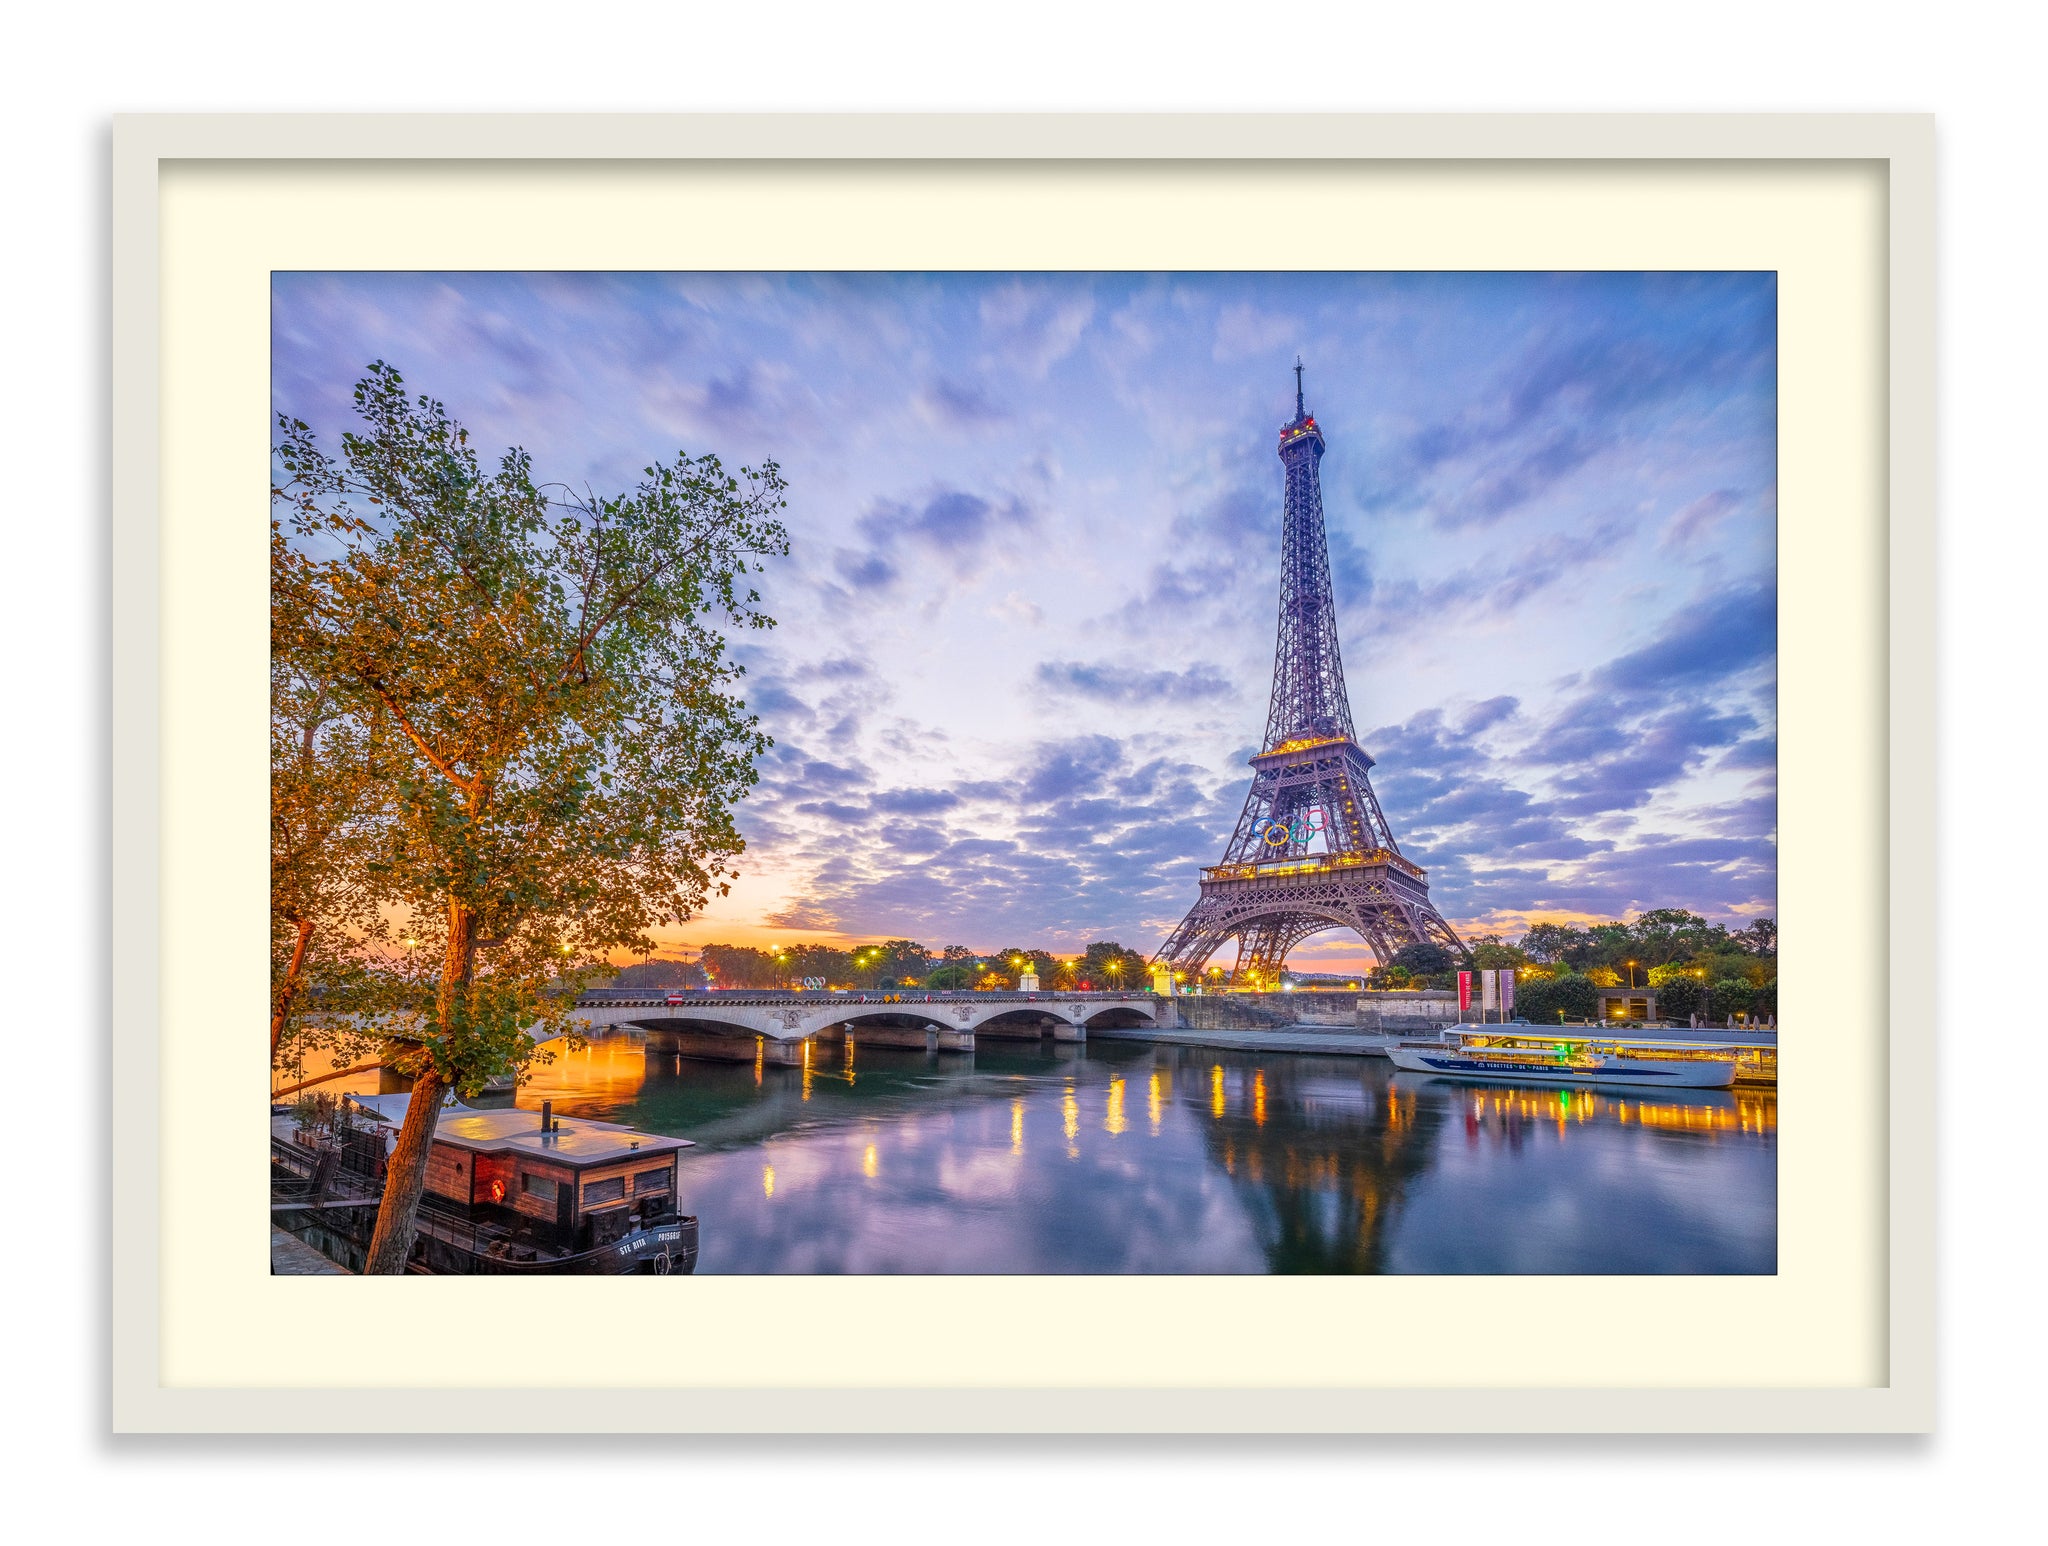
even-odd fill
[{"label": "blue and purple cloudy sky with orange glow at the horizon", "polygon": [[338,448],[387,360],[545,481],[782,467],[774,749],[664,944],[1151,954],[1266,723],[1300,356],[1374,790],[1511,940],[1776,915],[1776,334],[1769,272],[276,274],[272,401]]}]

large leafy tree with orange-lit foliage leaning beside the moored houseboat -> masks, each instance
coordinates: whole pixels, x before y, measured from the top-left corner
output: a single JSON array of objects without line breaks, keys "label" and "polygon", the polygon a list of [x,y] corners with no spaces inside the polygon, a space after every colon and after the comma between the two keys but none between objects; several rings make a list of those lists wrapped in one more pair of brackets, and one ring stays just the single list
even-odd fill
[{"label": "large leafy tree with orange-lit foliage leaning beside the moored houseboat", "polygon": [[[649,952],[649,930],[729,885],[731,805],[768,747],[713,625],[770,627],[748,575],[786,553],[774,463],[645,469],[627,493],[551,493],[524,450],[469,432],[377,362],[367,430],[330,459],[276,420],[272,649],[389,725],[387,903],[440,958],[393,1048],[414,1079],[367,1272],[403,1272],[449,1089],[475,1091],[559,1024],[563,973]],[[365,512],[365,506],[369,512]]]}]

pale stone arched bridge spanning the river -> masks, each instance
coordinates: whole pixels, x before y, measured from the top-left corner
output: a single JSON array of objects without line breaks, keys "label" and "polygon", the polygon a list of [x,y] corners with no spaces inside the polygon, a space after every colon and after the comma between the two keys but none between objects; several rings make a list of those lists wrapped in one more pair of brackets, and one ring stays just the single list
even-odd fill
[{"label": "pale stone arched bridge spanning the river", "polygon": [[1174,1026],[1153,993],[631,993],[575,1001],[586,1030],[631,1026],[649,1053],[801,1065],[807,1044],[922,1046],[971,1053],[977,1036],[1087,1040],[1090,1026]]}]

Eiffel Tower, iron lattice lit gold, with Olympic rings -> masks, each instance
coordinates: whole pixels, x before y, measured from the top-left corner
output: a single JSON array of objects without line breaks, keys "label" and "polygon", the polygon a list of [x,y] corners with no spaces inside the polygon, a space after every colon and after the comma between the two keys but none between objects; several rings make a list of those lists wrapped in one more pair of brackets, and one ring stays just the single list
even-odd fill
[{"label": "Eiffel Tower, iron lattice lit gold, with Olympic rings", "polygon": [[1352,729],[1323,536],[1323,430],[1303,405],[1300,371],[1294,360],[1294,418],[1280,426],[1280,643],[1264,749],[1223,862],[1202,870],[1200,901],[1153,956],[1196,977],[1235,938],[1237,985],[1274,983],[1288,950],[1333,928],[1364,936],[1382,967],[1415,940],[1464,948],[1430,905],[1427,872],[1401,856]]}]

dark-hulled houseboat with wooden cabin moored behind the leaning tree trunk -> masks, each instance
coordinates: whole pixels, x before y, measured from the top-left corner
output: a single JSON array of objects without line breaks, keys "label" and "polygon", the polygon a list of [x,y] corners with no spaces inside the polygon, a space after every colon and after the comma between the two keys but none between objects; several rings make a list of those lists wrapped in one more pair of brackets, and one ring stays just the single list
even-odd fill
[{"label": "dark-hulled houseboat with wooden cabin moored behind the leaning tree trunk", "polygon": [[[270,1124],[272,1222],[360,1272],[383,1175],[410,1096],[344,1096],[307,1134],[287,1110]],[[678,1210],[676,1157],[688,1139],[553,1106],[451,1106],[434,1126],[412,1272],[674,1274],[696,1270],[696,1218]]]}]

